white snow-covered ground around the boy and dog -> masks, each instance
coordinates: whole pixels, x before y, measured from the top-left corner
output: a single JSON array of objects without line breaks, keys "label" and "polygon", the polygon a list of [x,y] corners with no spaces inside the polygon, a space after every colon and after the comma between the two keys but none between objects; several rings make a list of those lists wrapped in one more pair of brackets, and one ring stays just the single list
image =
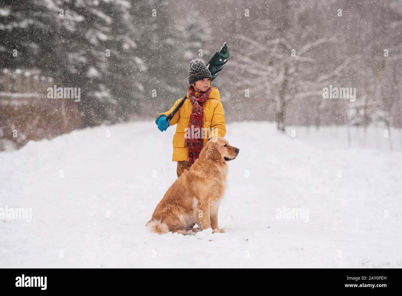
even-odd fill
[{"label": "white snow-covered ground around the boy and dog", "polygon": [[[226,233],[148,232],[176,179],[175,128],[101,126],[0,153],[0,208],[32,209],[32,222],[0,220],[0,267],[402,267],[400,148],[345,149],[267,122],[227,125],[240,154]],[[306,216],[278,219],[283,207]]]}]

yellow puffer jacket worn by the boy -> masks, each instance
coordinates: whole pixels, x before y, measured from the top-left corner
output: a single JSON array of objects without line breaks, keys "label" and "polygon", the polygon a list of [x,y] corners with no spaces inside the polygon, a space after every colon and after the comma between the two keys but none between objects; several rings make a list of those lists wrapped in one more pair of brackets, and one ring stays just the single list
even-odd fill
[{"label": "yellow puffer jacket worn by the boy", "polygon": [[[225,125],[225,113],[224,107],[221,103],[221,96],[219,95],[219,90],[211,86],[212,90],[209,94],[207,101],[204,103],[204,146],[208,142],[208,138],[212,137],[224,137],[226,135],[226,125]],[[195,96],[197,96],[195,92]],[[158,116],[164,114],[168,116],[177,104],[180,103],[182,98],[178,99],[174,103],[173,107],[164,113],[159,113]],[[183,105],[177,110],[173,118],[170,120],[170,125],[177,123],[176,133],[173,136],[173,161],[189,160],[189,150],[184,147],[184,135],[186,133],[186,127],[189,126],[189,119],[191,111],[193,110],[193,104],[187,95],[187,100],[184,101]],[[194,131],[197,132],[197,131]]]}]

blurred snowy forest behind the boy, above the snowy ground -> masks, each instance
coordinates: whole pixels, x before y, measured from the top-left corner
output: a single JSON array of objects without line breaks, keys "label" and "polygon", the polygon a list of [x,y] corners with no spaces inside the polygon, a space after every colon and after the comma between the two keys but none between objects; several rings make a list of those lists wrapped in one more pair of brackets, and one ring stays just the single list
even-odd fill
[{"label": "blurred snowy forest behind the boy, above the snowy ground", "polygon": [[[227,123],[402,127],[399,0],[0,2],[2,138],[23,121],[35,139],[152,119],[185,95],[189,62],[207,63],[225,41],[230,60],[212,85]],[[21,106],[30,97],[15,93],[39,81],[80,87],[81,101]],[[329,85],[356,87],[356,101],[323,99]],[[49,132],[57,114],[64,123]]]}]

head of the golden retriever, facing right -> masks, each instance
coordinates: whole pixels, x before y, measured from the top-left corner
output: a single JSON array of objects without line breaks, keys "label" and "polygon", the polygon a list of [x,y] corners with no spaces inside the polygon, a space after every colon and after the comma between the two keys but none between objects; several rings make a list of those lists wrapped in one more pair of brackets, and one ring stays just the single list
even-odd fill
[{"label": "head of the golden retriever, facing right", "polygon": [[230,146],[229,142],[222,137],[211,138],[207,145],[207,157],[212,158],[215,161],[222,159],[223,162],[234,160],[239,155],[239,149]]}]

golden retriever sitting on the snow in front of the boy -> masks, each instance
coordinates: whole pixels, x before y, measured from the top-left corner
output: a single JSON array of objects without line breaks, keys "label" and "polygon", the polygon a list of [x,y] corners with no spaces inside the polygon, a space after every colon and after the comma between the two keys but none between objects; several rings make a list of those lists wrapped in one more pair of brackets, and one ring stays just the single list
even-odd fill
[{"label": "golden retriever sitting on the snow in front of the boy", "polygon": [[151,232],[169,231],[187,234],[195,223],[200,229],[224,232],[218,226],[219,202],[226,189],[227,162],[234,160],[239,149],[225,138],[211,138],[203,147],[190,170],[185,170],[166,191],[146,224]]}]

